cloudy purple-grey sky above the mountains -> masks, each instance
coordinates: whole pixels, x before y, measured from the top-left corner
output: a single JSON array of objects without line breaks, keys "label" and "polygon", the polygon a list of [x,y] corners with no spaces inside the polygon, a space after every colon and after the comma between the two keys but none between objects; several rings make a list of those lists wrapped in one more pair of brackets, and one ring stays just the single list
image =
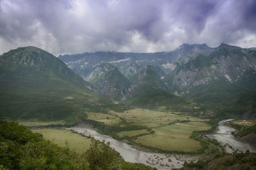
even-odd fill
[{"label": "cloudy purple-grey sky above the mountains", "polygon": [[0,0],[0,53],[171,51],[256,46],[256,0]]}]

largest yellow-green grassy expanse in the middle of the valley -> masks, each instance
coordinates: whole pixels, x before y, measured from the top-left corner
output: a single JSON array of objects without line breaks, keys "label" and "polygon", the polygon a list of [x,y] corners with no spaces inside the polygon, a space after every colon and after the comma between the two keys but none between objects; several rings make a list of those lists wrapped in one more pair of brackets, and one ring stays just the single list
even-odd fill
[{"label": "largest yellow-green grassy expanse in the middle of the valley", "polygon": [[154,131],[147,134],[145,129],[118,132],[120,138],[130,138],[134,143],[149,148],[157,148],[167,152],[192,153],[200,150],[200,141],[191,139],[193,131],[206,131],[211,128],[209,119],[186,116],[182,113],[168,111],[152,111],[141,108],[127,110],[122,113],[109,111],[111,115],[124,118],[131,125],[142,125]]}]

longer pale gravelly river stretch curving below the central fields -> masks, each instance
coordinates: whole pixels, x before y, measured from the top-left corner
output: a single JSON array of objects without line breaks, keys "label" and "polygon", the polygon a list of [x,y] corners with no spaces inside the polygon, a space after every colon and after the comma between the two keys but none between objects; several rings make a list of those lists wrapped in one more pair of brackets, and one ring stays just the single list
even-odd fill
[{"label": "longer pale gravelly river stretch curving below the central fields", "polygon": [[90,127],[71,127],[67,129],[76,131],[84,136],[91,136],[99,141],[104,140],[109,142],[111,148],[115,148],[116,152],[120,153],[127,162],[146,164],[148,166],[156,167],[157,169],[177,169],[183,167],[185,160],[187,162],[196,162],[198,160],[198,156],[152,153],[138,150],[131,145],[122,141],[117,141],[110,136],[99,134],[99,132]]}]

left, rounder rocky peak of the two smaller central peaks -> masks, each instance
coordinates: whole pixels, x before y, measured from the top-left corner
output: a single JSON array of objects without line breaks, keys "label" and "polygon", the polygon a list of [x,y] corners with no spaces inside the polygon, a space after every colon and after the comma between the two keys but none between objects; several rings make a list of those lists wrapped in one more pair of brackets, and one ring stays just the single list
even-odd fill
[{"label": "left, rounder rocky peak of the two smaller central peaks", "polygon": [[120,71],[108,62],[95,66],[86,76],[103,96],[122,99],[127,94],[130,81]]}]

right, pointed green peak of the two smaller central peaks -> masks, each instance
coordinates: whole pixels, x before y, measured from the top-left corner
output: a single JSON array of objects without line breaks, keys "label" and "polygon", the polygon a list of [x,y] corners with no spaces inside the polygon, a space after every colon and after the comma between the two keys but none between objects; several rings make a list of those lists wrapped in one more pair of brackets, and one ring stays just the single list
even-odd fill
[{"label": "right, pointed green peak of the two smaller central peaks", "polygon": [[191,111],[195,108],[195,103],[168,91],[154,66],[147,66],[138,74],[124,103],[138,108],[156,109],[162,106],[166,110],[176,111]]}]

